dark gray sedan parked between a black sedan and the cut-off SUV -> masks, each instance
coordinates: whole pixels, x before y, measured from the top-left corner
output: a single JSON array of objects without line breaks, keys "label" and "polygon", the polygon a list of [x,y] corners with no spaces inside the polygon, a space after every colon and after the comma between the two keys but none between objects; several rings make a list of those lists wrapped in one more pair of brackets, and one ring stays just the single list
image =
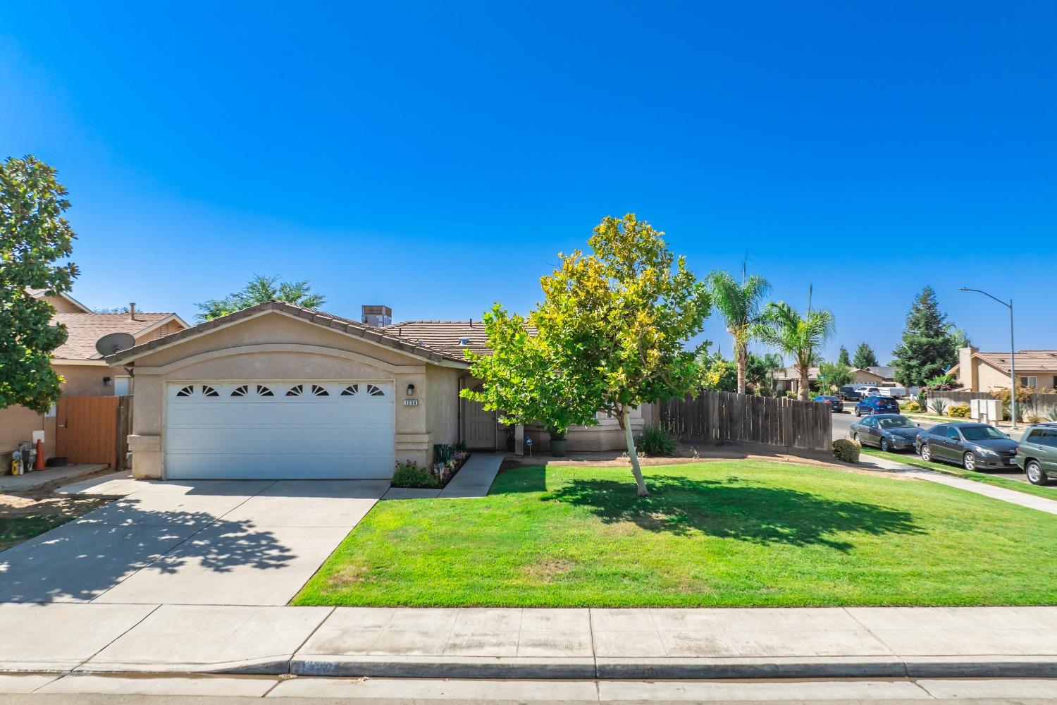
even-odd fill
[{"label": "dark gray sedan parked between a black sedan and the cut-off SUV", "polygon": [[940,424],[917,434],[922,460],[960,463],[967,470],[1016,467],[1017,442],[987,424]]}]

